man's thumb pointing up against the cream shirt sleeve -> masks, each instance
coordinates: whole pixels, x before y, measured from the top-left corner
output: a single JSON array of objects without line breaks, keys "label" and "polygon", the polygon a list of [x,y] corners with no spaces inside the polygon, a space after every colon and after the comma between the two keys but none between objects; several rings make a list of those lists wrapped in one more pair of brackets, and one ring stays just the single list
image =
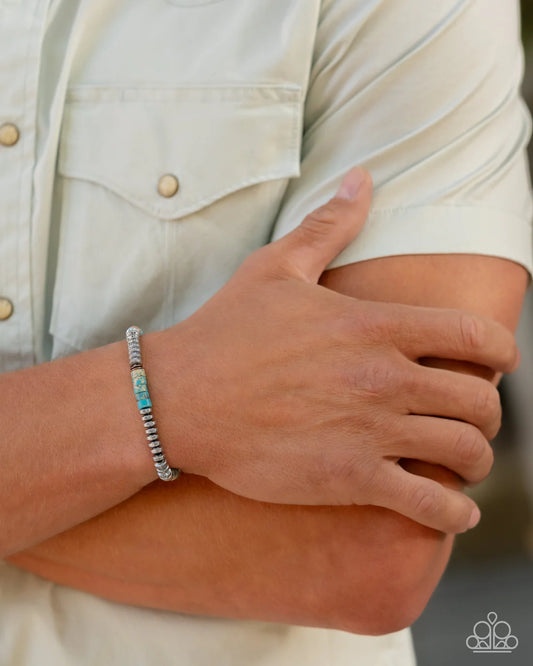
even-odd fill
[{"label": "man's thumb pointing up against the cream shirt sleeve", "polygon": [[361,167],[354,167],[345,175],[332,199],[309,213],[296,229],[271,244],[287,277],[318,282],[330,261],[361,230],[371,200],[370,174]]}]

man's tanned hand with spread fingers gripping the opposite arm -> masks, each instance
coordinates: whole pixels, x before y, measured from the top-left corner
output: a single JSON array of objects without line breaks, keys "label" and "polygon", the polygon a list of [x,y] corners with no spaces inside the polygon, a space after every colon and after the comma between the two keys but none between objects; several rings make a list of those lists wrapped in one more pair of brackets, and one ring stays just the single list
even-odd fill
[{"label": "man's tanned hand with spread fingers gripping the opposite arm", "polygon": [[482,480],[498,393],[478,377],[417,361],[512,371],[514,338],[457,310],[360,301],[317,285],[362,227],[371,189],[368,174],[352,170],[334,199],[250,255],[202,308],[163,333],[174,336],[172,356],[186,350],[183,372],[194,377],[175,404],[185,431],[167,443],[169,458],[252,499],[374,504],[464,531],[479,519],[474,502],[398,461]]}]

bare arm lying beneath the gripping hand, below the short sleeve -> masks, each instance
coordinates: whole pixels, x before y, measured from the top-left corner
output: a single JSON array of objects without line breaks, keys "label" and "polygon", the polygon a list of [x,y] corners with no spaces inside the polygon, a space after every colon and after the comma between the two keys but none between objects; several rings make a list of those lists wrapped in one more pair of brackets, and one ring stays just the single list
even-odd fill
[{"label": "bare arm lying beneath the gripping hand, below the short sleeve", "polygon": [[[368,300],[460,307],[514,329],[527,277],[502,259],[435,255],[352,264],[321,281]],[[480,366],[427,362],[497,381]],[[461,485],[443,468],[405,464]],[[386,509],[267,504],[190,475],[152,483],[7,560],[126,604],[380,634],[422,612],[451,547],[450,535]]]}]

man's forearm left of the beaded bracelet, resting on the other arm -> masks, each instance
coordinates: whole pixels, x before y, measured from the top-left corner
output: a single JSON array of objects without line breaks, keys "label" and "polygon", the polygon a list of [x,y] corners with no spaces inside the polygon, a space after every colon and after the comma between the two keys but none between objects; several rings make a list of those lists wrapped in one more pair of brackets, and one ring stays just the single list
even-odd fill
[{"label": "man's forearm left of the beaded bracelet, resting on the other arm", "polygon": [[[159,333],[154,363],[168,364]],[[105,511],[155,478],[125,343],[0,375],[0,556]]]}]

